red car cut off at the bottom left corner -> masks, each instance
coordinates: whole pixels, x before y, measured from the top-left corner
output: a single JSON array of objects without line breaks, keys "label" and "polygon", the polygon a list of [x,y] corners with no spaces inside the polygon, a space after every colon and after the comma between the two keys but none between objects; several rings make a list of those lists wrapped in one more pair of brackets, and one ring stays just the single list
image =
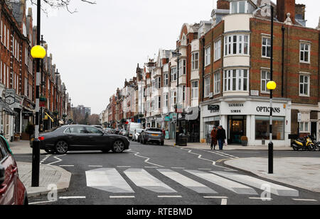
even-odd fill
[{"label": "red car cut off at the bottom left corner", "polygon": [[0,205],[27,205],[26,188],[18,177],[18,166],[9,144],[0,135]]}]

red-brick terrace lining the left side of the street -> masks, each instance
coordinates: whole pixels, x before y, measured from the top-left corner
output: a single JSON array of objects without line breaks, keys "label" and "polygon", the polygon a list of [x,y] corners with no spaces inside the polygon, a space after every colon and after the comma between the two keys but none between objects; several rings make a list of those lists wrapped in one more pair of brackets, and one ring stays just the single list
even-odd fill
[{"label": "red-brick terrace lining the left side of the street", "polygon": [[[36,27],[33,26],[32,9],[26,13],[26,1],[0,2],[0,124],[1,134],[8,140],[28,137],[25,130],[28,123],[34,123],[36,97],[36,64],[31,57],[31,48],[36,45]],[[47,45],[44,45],[46,49]],[[53,111],[55,94],[49,77],[54,75],[52,55],[46,56],[42,64],[41,96],[46,98],[44,110]],[[47,80],[48,79],[48,80]],[[68,94],[58,81],[58,103],[60,116],[67,112]],[[7,98],[6,96],[12,96]],[[11,99],[11,102],[10,102]],[[45,113],[42,113],[46,119]],[[51,114],[52,116],[52,114]],[[52,125],[47,125],[51,128]],[[43,130],[43,126],[41,126]]]}]

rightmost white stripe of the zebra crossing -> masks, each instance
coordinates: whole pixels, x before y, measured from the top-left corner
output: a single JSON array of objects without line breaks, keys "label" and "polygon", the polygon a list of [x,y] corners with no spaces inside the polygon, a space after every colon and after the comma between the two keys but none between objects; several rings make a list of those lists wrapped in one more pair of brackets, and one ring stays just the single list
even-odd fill
[{"label": "rightmost white stripe of the zebra crossing", "polygon": [[[213,171],[211,171],[213,172]],[[291,189],[285,186],[280,186],[278,184],[273,184],[269,181],[264,181],[261,179],[254,178],[252,176],[226,173],[226,172],[213,172],[214,174],[218,174],[228,179],[233,179],[242,184],[247,184],[249,186],[253,186],[257,189],[267,190],[270,188],[270,193],[273,193],[277,196],[299,196],[299,191],[296,189]]]}]

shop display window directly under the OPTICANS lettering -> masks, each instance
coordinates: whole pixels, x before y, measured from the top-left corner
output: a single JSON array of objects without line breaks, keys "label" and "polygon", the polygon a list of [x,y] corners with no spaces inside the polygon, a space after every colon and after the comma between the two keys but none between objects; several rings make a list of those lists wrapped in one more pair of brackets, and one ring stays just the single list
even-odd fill
[{"label": "shop display window directly under the OPTICANS lettering", "polygon": [[[270,139],[270,117],[255,116],[255,140]],[[284,140],[284,117],[272,117],[272,140]]]}]

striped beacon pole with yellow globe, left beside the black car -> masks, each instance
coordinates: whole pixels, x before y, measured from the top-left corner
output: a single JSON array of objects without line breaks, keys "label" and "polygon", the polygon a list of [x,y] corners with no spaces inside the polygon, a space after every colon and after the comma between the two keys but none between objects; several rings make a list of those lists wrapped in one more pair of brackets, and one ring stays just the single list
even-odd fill
[{"label": "striped beacon pole with yellow globe, left beside the black car", "polygon": [[40,140],[39,137],[39,96],[40,96],[40,60],[46,56],[46,50],[40,43],[40,27],[41,27],[41,0],[37,1],[37,44],[31,49],[31,56],[36,60],[36,125],[32,149],[32,178],[31,186],[39,186],[40,173]]}]

